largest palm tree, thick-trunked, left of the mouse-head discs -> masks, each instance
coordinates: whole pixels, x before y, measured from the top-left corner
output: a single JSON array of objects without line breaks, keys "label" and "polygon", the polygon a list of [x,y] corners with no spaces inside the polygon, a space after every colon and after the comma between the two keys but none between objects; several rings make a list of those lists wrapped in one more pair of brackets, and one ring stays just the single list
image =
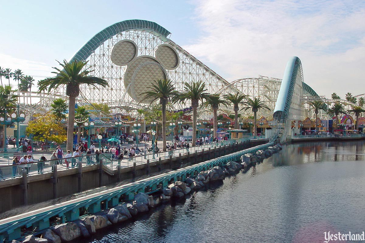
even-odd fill
[{"label": "largest palm tree, thick-trunked, left of the mouse-head discs", "polygon": [[[57,61],[58,62],[58,61]],[[57,67],[53,67],[57,72],[52,72],[57,74],[53,78],[46,78],[38,81],[39,91],[51,91],[53,89],[58,89],[61,86],[66,85],[66,95],[69,96],[69,117],[67,122],[67,149],[72,150],[73,145],[73,122],[75,119],[75,103],[76,97],[80,94],[80,85],[86,84],[88,86],[92,85],[97,88],[96,85],[107,87],[108,82],[104,79],[97,78],[89,75],[90,72],[94,70],[89,70],[90,67],[84,68],[88,63],[87,61],[74,61],[72,63],[58,62],[63,68],[61,71]],[[83,71],[81,71],[84,69]]]}]

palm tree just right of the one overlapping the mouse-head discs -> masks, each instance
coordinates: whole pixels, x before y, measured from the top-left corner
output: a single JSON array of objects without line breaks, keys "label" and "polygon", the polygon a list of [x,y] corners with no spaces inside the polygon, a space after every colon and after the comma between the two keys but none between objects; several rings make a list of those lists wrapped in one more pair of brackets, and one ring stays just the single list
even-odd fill
[{"label": "palm tree just right of the one overlapping the mouse-head discs", "polygon": [[191,101],[191,106],[193,107],[193,138],[192,138],[192,146],[195,146],[196,140],[196,120],[198,116],[198,106],[199,101],[203,101],[208,97],[208,93],[205,92],[205,83],[203,81],[195,81],[191,84],[185,83],[184,91],[180,94],[180,100],[184,104],[189,100]]}]

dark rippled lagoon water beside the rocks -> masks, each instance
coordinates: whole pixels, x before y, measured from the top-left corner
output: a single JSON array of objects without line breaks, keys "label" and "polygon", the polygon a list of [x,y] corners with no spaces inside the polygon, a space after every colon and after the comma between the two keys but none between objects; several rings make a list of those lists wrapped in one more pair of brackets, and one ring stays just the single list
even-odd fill
[{"label": "dark rippled lagoon water beside the rocks", "polygon": [[324,231],[362,233],[364,149],[363,142],[284,146],[246,173],[83,242],[316,243]]}]

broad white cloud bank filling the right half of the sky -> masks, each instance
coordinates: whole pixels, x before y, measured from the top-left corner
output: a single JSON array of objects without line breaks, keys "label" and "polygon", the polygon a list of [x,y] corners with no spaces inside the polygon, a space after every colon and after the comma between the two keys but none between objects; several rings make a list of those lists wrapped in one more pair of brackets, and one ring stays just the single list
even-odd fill
[{"label": "broad white cloud bank filling the right half of the sky", "polygon": [[259,74],[282,78],[289,58],[298,56],[306,83],[320,95],[364,93],[363,1],[193,4],[202,34],[184,48],[228,81]]}]

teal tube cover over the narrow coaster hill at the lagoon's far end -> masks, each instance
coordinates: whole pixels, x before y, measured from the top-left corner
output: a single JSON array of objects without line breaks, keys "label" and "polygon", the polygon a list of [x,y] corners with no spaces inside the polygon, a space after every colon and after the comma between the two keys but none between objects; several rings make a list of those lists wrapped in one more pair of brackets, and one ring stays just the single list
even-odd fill
[{"label": "teal tube cover over the narrow coaster hill at the lagoon's far end", "polygon": [[[300,72],[300,80],[297,80],[298,72]],[[304,83],[301,61],[297,56],[293,56],[285,67],[283,81],[281,81],[273,114],[275,121],[285,122],[287,120],[296,82],[302,83],[303,91],[307,94],[319,97],[316,91]]]}]

